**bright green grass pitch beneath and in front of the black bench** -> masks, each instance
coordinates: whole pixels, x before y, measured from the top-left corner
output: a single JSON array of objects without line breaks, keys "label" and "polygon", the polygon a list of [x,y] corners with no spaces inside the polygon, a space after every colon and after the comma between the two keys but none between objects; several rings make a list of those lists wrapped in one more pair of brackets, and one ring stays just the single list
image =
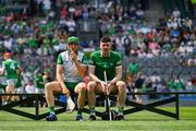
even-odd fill
[{"label": "bright green grass pitch beneath and in front of the black bench", "polygon": [[[173,111],[173,107],[162,107],[164,110]],[[34,112],[33,108],[23,110]],[[47,109],[41,109],[46,111]],[[125,116],[124,121],[88,121],[88,115],[84,114],[83,122],[75,121],[75,112],[58,115],[58,121],[48,122],[32,120],[28,118],[0,111],[0,131],[195,131],[196,107],[180,107],[180,120],[157,115],[149,111],[140,111]]]}]

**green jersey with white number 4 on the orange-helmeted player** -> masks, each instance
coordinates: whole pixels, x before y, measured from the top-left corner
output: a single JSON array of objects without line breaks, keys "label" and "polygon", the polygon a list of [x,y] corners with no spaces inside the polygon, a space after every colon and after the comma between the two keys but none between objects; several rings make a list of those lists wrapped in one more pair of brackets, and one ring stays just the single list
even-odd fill
[{"label": "green jersey with white number 4 on the orange-helmeted player", "polygon": [[3,68],[5,69],[7,79],[17,79],[17,69],[19,69],[17,61],[8,59],[3,61]]}]

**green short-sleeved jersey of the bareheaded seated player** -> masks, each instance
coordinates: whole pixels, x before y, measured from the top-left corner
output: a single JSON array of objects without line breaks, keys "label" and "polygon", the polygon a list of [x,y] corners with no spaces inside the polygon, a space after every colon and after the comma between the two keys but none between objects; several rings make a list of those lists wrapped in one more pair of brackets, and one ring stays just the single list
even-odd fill
[{"label": "green short-sleeved jersey of the bareheaded seated player", "polygon": [[103,71],[107,72],[108,81],[111,81],[115,74],[115,67],[122,66],[121,55],[115,51],[110,51],[110,56],[103,58],[101,51],[95,51],[90,55],[90,66],[95,66],[95,75],[101,81],[105,81]]}]

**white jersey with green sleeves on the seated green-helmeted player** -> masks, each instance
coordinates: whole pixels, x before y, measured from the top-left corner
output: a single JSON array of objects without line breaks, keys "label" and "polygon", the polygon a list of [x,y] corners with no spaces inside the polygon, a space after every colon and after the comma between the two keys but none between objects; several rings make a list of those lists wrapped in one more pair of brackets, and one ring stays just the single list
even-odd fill
[{"label": "white jersey with green sleeves on the seated green-helmeted player", "polygon": [[[64,72],[63,72],[64,82],[78,83],[78,82],[83,81],[83,79],[79,75],[78,70],[77,70],[75,63],[71,60],[69,53],[70,53],[69,50],[61,52],[58,56],[57,64],[62,66],[63,69],[64,69]],[[87,66],[87,58],[86,58],[86,56],[83,52],[78,51],[77,60],[83,66]]]}]

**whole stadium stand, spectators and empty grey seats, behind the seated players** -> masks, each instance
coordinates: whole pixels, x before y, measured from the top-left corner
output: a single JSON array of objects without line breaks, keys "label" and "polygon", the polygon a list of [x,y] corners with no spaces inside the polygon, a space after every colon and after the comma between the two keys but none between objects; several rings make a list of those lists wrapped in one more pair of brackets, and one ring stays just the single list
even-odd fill
[{"label": "whole stadium stand, spectators and empty grey seats, behind the seated players", "polygon": [[90,53],[98,49],[99,37],[109,34],[113,49],[123,56],[124,70],[135,59],[146,78],[155,72],[160,78],[152,83],[161,85],[157,91],[166,90],[162,81],[168,83],[171,75],[174,80],[181,75],[183,91],[187,85],[188,91],[196,91],[192,82],[196,78],[195,10],[191,8],[194,4],[189,0],[188,3],[186,0],[162,0],[164,16],[159,20],[151,16],[155,25],[148,22],[146,14],[150,0],[144,1],[0,0],[3,7],[0,8],[0,61],[4,51],[15,55],[23,68],[25,87],[45,69],[50,70],[54,79],[56,58],[68,36],[77,35],[81,46]]}]

